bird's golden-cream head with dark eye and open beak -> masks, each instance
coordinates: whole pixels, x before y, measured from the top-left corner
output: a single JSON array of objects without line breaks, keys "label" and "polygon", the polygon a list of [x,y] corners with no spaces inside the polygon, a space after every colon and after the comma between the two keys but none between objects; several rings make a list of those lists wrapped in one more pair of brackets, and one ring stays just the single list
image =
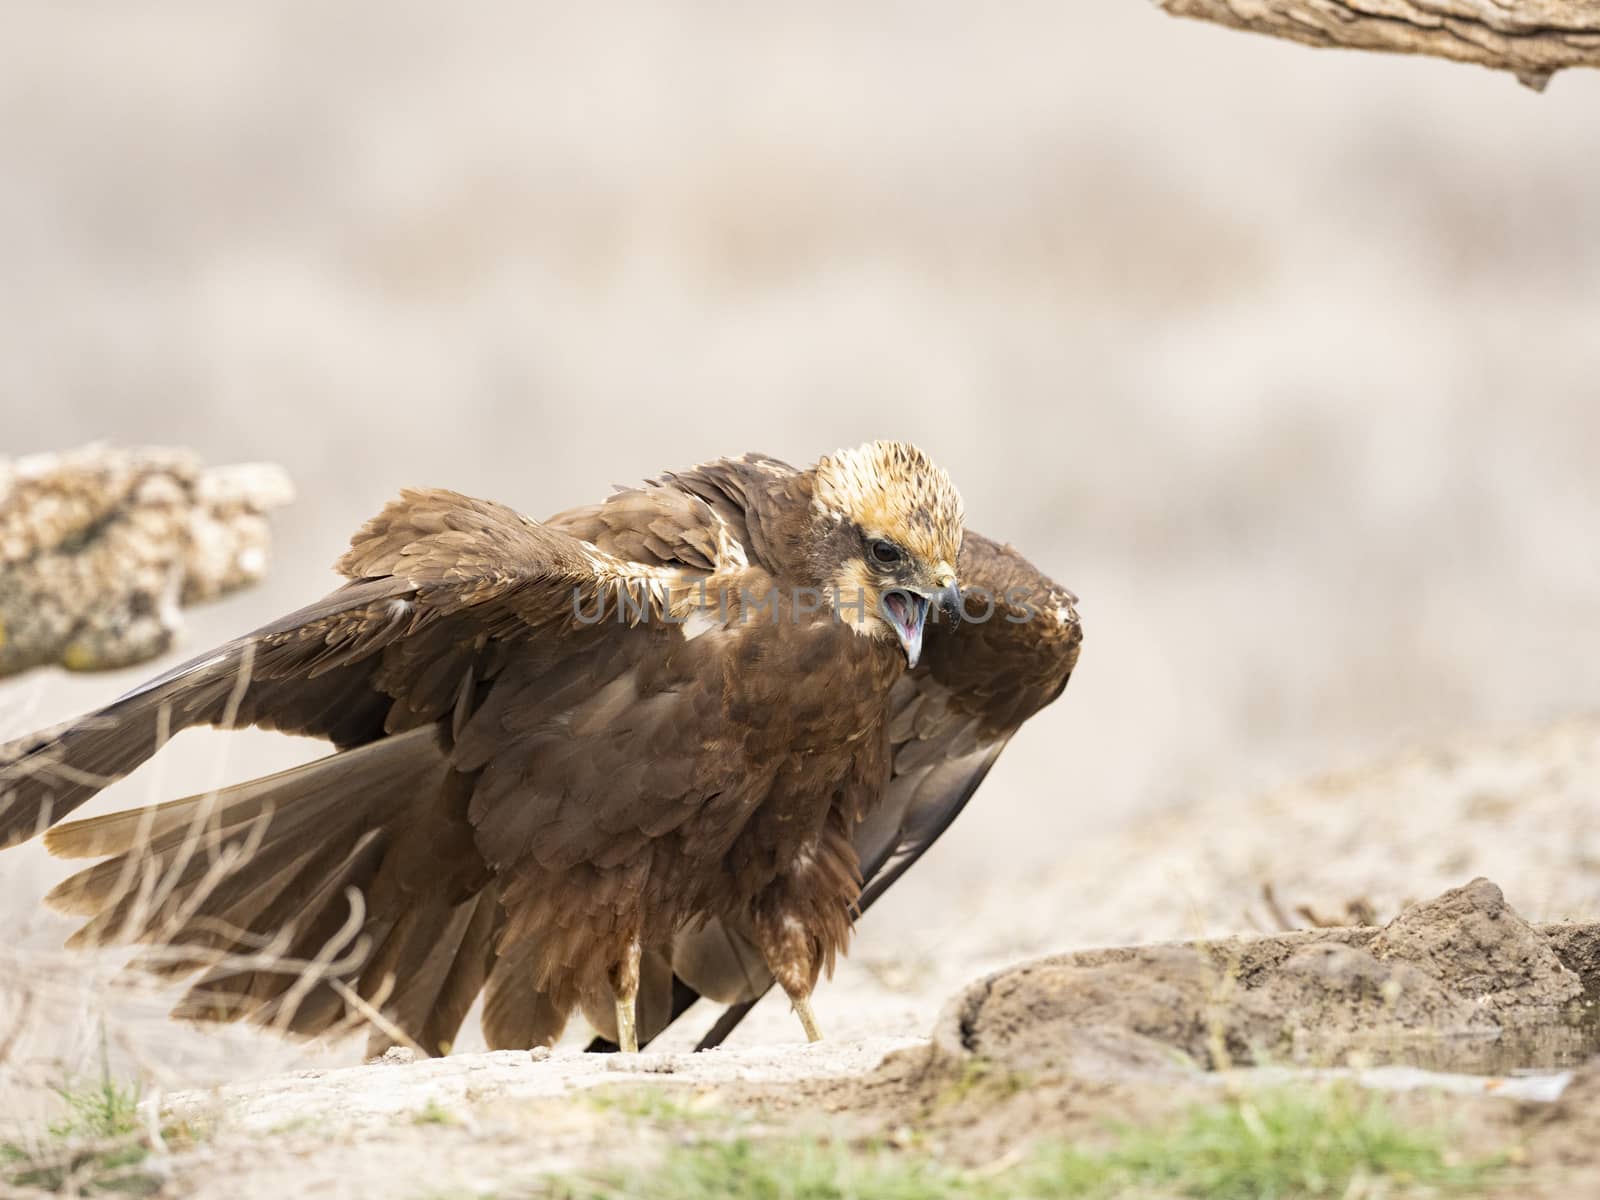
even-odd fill
[{"label": "bird's golden-cream head with dark eye and open beak", "polygon": [[869,442],[816,464],[818,576],[838,619],[896,642],[912,667],[934,606],[960,605],[962,494],[906,442]]}]

